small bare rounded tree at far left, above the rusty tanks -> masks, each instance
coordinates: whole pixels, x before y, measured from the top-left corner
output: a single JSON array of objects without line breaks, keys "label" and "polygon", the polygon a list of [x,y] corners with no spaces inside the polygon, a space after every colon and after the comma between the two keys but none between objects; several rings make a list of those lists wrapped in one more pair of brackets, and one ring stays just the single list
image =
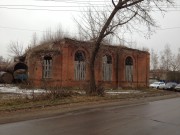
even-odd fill
[{"label": "small bare rounded tree at far left, above the rusty tanks", "polygon": [[8,45],[8,52],[10,57],[22,56],[24,53],[23,45],[20,44],[18,41],[17,42],[11,41]]}]

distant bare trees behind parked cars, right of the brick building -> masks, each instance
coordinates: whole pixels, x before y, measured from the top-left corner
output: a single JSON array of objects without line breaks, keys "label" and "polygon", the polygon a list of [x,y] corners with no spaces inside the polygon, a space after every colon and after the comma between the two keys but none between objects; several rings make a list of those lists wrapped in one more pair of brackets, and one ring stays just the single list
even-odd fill
[{"label": "distant bare trees behind parked cars, right of the brick building", "polygon": [[172,52],[170,45],[166,44],[160,52],[151,50],[152,77],[166,81],[180,82],[180,49]]}]

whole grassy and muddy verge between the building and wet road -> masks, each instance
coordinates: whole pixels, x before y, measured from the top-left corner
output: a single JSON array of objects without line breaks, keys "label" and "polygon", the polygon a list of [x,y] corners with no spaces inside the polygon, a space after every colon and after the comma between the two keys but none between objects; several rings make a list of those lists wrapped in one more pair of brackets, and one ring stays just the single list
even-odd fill
[{"label": "whole grassy and muddy verge between the building and wet road", "polygon": [[[4,87],[4,86],[3,86]],[[1,91],[0,87],[0,91]],[[10,87],[12,89],[12,87]],[[19,90],[18,90],[19,91]],[[24,90],[23,90],[24,91]],[[77,91],[76,91],[77,92]],[[180,93],[173,91],[163,91],[157,89],[147,90],[108,90],[103,97],[89,97],[76,94],[61,99],[40,99],[33,100],[17,93],[0,92],[0,124],[37,119],[49,116],[56,116],[62,113],[78,111],[82,109],[110,106],[139,104],[154,100],[180,97]],[[26,91],[27,93],[27,91]],[[32,94],[32,93],[31,93]],[[30,94],[30,95],[31,95]],[[18,97],[16,99],[12,97]],[[18,96],[17,96],[18,95]],[[19,98],[23,95],[23,98]],[[3,97],[3,98],[2,98]],[[4,98],[6,97],[6,98]]]}]

